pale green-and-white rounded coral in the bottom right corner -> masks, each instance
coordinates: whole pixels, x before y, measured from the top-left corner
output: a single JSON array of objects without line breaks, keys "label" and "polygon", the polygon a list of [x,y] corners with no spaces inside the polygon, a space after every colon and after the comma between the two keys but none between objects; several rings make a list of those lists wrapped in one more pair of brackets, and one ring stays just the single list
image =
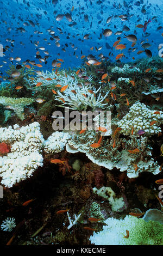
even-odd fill
[{"label": "pale green-and-white rounded coral in the bottom right corner", "polygon": [[123,220],[108,218],[103,230],[94,232],[94,245],[163,245],[163,225],[157,221],[126,216]]}]

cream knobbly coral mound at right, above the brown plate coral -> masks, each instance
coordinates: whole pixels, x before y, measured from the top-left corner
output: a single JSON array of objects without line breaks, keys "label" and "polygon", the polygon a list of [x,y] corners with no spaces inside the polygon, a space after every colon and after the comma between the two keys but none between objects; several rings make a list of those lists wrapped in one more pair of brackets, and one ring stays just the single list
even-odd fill
[{"label": "cream knobbly coral mound at right, above the brown plate coral", "polygon": [[[130,107],[129,113],[126,114],[117,125],[121,127],[121,133],[123,135],[131,135],[131,130],[134,127],[134,135],[139,136],[137,132],[144,130],[148,136],[161,132],[160,124],[163,123],[163,112],[160,114],[154,114],[154,110],[149,109],[145,104],[137,101]],[[152,125],[152,121],[155,123]]]}]

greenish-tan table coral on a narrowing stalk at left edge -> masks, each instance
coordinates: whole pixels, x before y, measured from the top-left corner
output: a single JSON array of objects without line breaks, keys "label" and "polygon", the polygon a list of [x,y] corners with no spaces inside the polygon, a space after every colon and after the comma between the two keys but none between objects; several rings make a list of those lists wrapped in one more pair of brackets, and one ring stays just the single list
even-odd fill
[{"label": "greenish-tan table coral on a narrowing stalk at left edge", "polygon": [[18,118],[21,120],[24,119],[23,112],[24,107],[30,105],[34,102],[32,98],[20,98],[13,99],[12,97],[0,97],[0,104],[2,104],[5,108],[12,109],[17,114]]}]

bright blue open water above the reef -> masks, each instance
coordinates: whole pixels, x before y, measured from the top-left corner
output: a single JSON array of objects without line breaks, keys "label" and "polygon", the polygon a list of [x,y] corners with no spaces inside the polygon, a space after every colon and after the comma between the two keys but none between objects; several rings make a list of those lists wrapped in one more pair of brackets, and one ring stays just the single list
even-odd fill
[{"label": "bright blue open water above the reef", "polygon": [[[52,61],[57,58],[64,60],[62,68],[79,66],[82,63],[80,57],[89,54],[98,57],[100,53],[103,53],[111,62],[115,62],[117,54],[121,53],[120,50],[112,47],[118,36],[121,37],[121,44],[126,44],[126,49],[122,51],[126,56],[122,58],[123,62],[133,61],[133,57],[135,60],[147,57],[145,52],[137,54],[138,51],[145,50],[140,44],[142,40],[149,42],[151,44],[149,50],[153,56],[158,56],[158,46],[163,44],[161,36],[163,29],[160,28],[157,31],[158,27],[163,27],[161,6],[162,0],[1,1],[1,44],[6,51],[4,56],[0,57],[0,70],[5,75],[5,70],[10,64],[22,64],[26,60],[34,60],[36,64],[40,64],[39,59],[36,59],[36,52],[40,52],[41,58],[44,58],[46,54],[39,47],[45,47],[44,51],[49,53],[47,64],[41,63],[43,70],[52,70]],[[72,8],[74,9],[72,10]],[[68,21],[65,16],[61,21],[55,19],[58,14],[66,13],[71,15],[73,21]],[[126,21],[121,21],[121,18],[118,17],[120,15],[126,15]],[[106,23],[109,16],[112,16],[112,20],[110,23]],[[143,28],[136,28],[136,25],[144,25],[145,21],[150,18],[152,22],[148,24],[146,32],[143,32]],[[34,26],[29,23],[29,20],[34,23]],[[28,26],[24,26],[24,22],[27,22]],[[123,31],[123,26],[129,27],[130,31]],[[21,27],[26,32],[17,31],[17,28]],[[57,28],[60,28],[62,32]],[[103,30],[106,28],[111,29],[112,35],[108,37],[103,35]],[[52,29],[55,32],[53,35],[59,36],[60,47],[55,45],[56,40],[47,29]],[[35,31],[37,32],[34,33]],[[117,31],[123,31],[123,33],[115,35]],[[83,39],[85,34],[89,34],[89,39]],[[132,49],[132,42],[129,42],[124,34],[136,35],[137,42],[134,52],[129,51],[129,48]],[[36,47],[34,43],[38,41],[39,44]],[[93,47],[92,51],[91,47]],[[97,49],[102,47],[102,49],[96,51],[95,47]],[[62,50],[63,48],[66,52]],[[13,60],[11,62],[10,57],[14,59],[20,57],[21,61]],[[36,69],[39,70],[39,68]]]}]

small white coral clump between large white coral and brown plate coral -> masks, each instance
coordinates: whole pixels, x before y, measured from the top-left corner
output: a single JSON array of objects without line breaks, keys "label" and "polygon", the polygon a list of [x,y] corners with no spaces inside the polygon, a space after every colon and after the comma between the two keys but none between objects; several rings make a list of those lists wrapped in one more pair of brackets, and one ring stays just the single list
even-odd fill
[{"label": "small white coral clump between large white coral and brown plate coral", "polygon": [[59,153],[64,150],[64,147],[70,138],[71,136],[68,132],[53,132],[44,143],[44,151],[46,153]]}]

